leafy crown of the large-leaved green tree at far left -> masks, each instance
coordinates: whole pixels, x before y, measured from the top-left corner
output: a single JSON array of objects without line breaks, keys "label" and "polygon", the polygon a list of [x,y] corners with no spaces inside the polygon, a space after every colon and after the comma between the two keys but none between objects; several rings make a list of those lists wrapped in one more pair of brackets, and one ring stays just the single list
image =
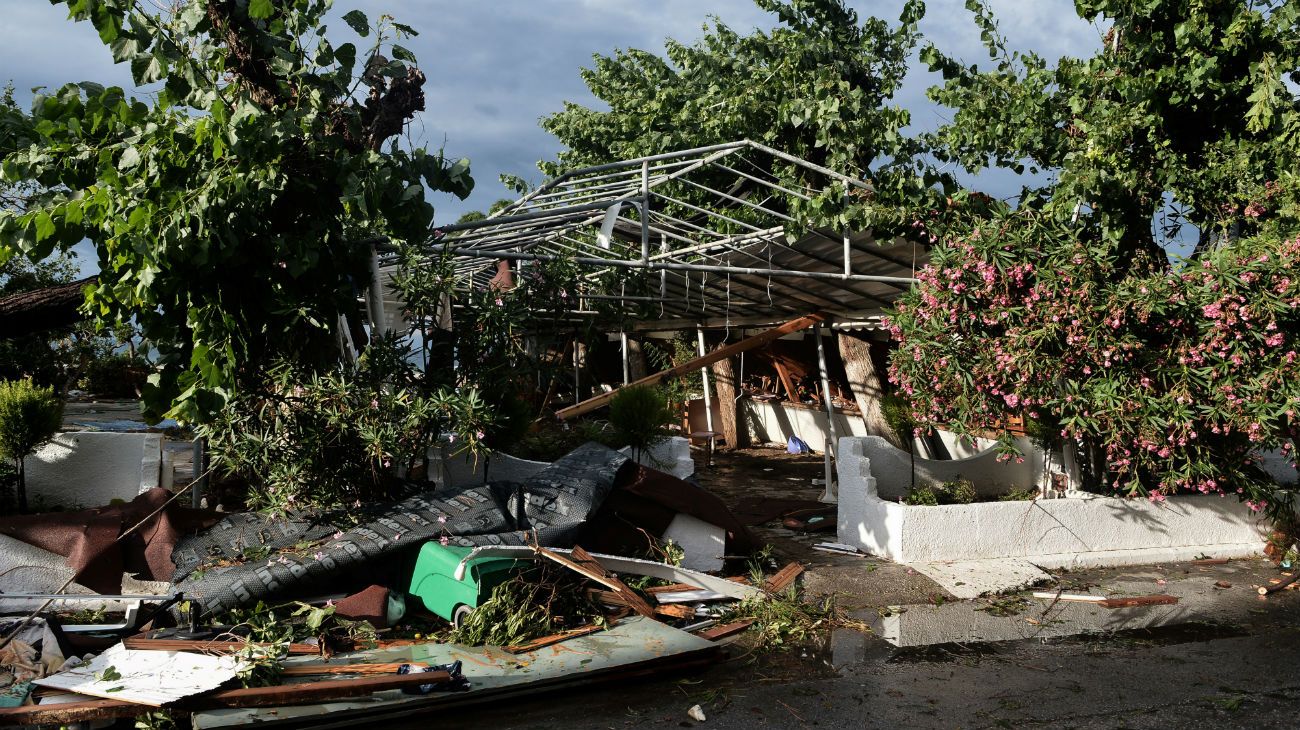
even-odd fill
[{"label": "leafy crown of the large-leaved green tree at far left", "polygon": [[468,162],[394,140],[424,108],[415,30],[352,10],[368,47],[326,38],[326,0],[64,0],[151,103],[68,84],[0,120],[0,171],[39,186],[0,213],[0,258],[90,239],[87,297],[105,326],[134,318],[157,373],[146,412],[202,421],[261,365],[337,359],[356,316],[368,236],[425,234],[433,191],[468,195]]}]

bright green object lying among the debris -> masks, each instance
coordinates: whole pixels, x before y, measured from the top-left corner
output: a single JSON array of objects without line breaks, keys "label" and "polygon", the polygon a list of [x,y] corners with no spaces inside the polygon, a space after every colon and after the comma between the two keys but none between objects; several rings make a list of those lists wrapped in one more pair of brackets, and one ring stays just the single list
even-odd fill
[{"label": "bright green object lying among the debris", "polygon": [[465,574],[458,581],[456,566],[471,549],[428,542],[420,548],[420,557],[411,572],[411,595],[419,596],[425,608],[456,626],[491,596],[493,588],[528,564],[512,557],[478,557],[465,565]]}]

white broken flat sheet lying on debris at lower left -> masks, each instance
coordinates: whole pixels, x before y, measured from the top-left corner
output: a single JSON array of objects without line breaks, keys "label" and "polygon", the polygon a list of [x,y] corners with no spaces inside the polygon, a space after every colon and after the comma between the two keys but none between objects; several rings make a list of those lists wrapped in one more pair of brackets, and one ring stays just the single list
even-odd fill
[{"label": "white broken flat sheet lying on debris at lower left", "polygon": [[216,690],[243,664],[231,656],[110,647],[88,664],[36,679],[34,685],[79,695],[161,707]]}]

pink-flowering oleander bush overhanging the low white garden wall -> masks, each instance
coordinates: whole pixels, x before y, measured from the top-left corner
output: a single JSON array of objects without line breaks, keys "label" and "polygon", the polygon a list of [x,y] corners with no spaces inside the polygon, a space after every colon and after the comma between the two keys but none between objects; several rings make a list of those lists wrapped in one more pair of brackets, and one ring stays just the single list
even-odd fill
[{"label": "pink-flowering oleander bush overhanging the low white garden wall", "polygon": [[1122,270],[1104,244],[1022,233],[944,242],[887,320],[913,418],[1041,413],[1101,449],[1115,488],[1268,504],[1253,455],[1294,457],[1300,435],[1300,238]]}]

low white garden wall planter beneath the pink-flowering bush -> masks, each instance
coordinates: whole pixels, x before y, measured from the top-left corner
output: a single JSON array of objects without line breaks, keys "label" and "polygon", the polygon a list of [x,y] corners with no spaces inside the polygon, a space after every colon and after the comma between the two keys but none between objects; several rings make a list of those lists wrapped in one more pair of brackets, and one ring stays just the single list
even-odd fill
[{"label": "low white garden wall planter beneath the pink-flowering bush", "polygon": [[[913,507],[883,499],[905,492],[907,455],[878,436],[840,439],[838,540],[898,562],[1023,557],[1044,568],[1234,557],[1260,552],[1264,522],[1232,497],[1178,496],[1165,503],[1067,492],[1066,499]],[[898,449],[894,449],[898,451]],[[987,453],[919,464],[927,479],[961,474],[979,486],[1031,486],[1032,465],[988,462]],[[936,464],[946,464],[939,470]],[[1006,469],[994,472],[994,469]],[[897,482],[905,478],[900,487]],[[922,475],[918,473],[918,482]]]}]

